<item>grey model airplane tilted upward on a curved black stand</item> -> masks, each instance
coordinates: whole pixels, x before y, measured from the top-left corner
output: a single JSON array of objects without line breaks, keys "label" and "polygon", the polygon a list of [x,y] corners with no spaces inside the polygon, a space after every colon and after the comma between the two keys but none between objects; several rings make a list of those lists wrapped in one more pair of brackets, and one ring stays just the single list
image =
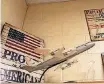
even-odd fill
[{"label": "grey model airplane tilted upward on a curved black stand", "polygon": [[65,48],[57,49],[54,52],[51,52],[51,55],[54,56],[53,58],[47,61],[44,61],[43,63],[40,63],[36,66],[23,66],[22,69],[25,69],[29,72],[33,72],[36,70],[51,68],[57,64],[65,62],[68,59],[71,59],[75,57],[76,55],[92,48],[94,45],[95,43],[88,42],[69,51],[65,51]]}]

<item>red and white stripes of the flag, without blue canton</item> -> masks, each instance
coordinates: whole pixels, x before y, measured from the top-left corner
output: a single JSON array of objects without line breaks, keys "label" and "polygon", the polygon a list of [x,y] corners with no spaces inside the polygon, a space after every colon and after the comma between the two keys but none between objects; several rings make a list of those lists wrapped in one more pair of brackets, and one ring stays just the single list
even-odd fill
[{"label": "red and white stripes of the flag, without blue canton", "polygon": [[6,38],[5,44],[4,44],[6,47],[9,47],[9,48],[17,50],[19,52],[25,53],[29,56],[33,56],[37,59],[41,58],[40,54],[35,52],[34,49],[36,49],[38,47],[44,47],[44,41],[42,39],[29,35],[26,32],[15,29],[19,32],[24,33],[24,41],[20,42],[18,40],[12,39],[8,36],[9,29],[10,29],[9,27],[4,27],[3,33],[7,33],[7,34],[2,34],[2,35],[5,35],[4,37]]}]

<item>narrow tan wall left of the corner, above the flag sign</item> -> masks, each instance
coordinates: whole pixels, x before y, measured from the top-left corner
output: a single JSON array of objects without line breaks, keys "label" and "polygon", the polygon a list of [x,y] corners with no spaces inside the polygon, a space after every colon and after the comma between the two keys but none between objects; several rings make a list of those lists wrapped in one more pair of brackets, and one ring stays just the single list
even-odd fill
[{"label": "narrow tan wall left of the corner, above the flag sign", "polygon": [[27,5],[25,0],[1,0],[1,24],[5,22],[22,28]]}]

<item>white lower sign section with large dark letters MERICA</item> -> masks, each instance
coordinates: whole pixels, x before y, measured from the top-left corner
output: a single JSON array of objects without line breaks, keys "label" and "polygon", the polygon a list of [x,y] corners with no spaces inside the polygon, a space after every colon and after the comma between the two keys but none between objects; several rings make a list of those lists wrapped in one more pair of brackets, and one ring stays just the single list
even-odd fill
[{"label": "white lower sign section with large dark letters MERICA", "polygon": [[5,66],[0,68],[0,81],[1,82],[17,82],[17,83],[37,83],[40,81],[39,75],[35,73],[29,73],[22,69],[17,69],[12,66],[7,66],[5,64],[1,64],[1,66]]}]

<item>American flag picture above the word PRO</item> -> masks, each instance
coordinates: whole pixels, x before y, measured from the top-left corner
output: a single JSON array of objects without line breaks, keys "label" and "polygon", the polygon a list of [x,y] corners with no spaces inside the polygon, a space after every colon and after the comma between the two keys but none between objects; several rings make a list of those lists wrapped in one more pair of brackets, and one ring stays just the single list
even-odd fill
[{"label": "American flag picture above the word PRO", "polygon": [[44,41],[42,39],[9,26],[4,27],[2,37],[6,47],[33,56],[37,59],[41,58],[41,54],[35,52],[35,49],[44,47]]}]

